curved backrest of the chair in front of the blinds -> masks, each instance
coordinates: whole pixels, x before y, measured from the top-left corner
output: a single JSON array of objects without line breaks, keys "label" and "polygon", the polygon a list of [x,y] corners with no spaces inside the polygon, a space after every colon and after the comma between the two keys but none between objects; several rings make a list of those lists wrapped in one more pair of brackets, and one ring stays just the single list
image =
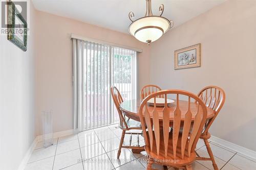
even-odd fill
[{"label": "curved backrest of the chair in front of the blinds", "polygon": [[116,106],[117,112],[119,114],[119,119],[120,119],[119,127],[121,129],[127,129],[128,126],[127,126],[127,124],[125,122],[125,118],[123,116],[122,111],[119,108],[120,104],[123,103],[123,98],[122,98],[119,90],[115,86],[111,87],[111,95],[112,95],[112,99],[114,101],[114,104]]}]

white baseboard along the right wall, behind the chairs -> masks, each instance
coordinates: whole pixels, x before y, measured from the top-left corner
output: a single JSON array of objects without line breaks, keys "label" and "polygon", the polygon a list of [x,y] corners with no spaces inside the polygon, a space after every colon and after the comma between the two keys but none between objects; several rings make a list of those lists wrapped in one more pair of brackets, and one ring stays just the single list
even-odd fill
[{"label": "white baseboard along the right wall, behind the chairs", "polygon": [[216,136],[211,136],[211,138],[209,139],[211,142],[214,142],[216,144],[219,144],[222,147],[225,147],[227,149],[233,150],[235,152],[238,152],[242,155],[245,155],[247,157],[250,157],[252,159],[256,160],[256,152],[249,150],[247,148],[241,147],[240,145],[231,143],[229,141],[226,141],[224,139],[218,138]]}]

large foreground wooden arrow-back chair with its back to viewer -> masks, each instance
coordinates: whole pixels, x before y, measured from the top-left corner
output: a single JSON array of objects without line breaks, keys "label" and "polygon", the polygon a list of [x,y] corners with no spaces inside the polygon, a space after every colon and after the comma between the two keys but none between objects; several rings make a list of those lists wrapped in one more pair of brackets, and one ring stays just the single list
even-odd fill
[{"label": "large foreground wooden arrow-back chair with its back to viewer", "polygon": [[[170,108],[167,106],[167,94],[175,95],[176,109],[173,119],[170,119]],[[164,95],[165,105],[161,112],[156,109],[156,97]],[[179,96],[188,97],[187,112],[184,122],[181,121],[181,111]],[[147,101],[154,98],[154,109],[148,109]],[[194,99],[198,103],[197,112],[191,112],[190,100]],[[195,115],[192,121],[192,115]],[[166,166],[192,169],[191,164],[196,159],[195,148],[207,116],[207,108],[197,95],[183,90],[162,90],[148,95],[141,103],[139,116],[145,140],[145,151],[148,155],[146,169],[152,169],[152,163]],[[190,133],[190,125],[193,123],[193,130]],[[146,131],[147,127],[147,131]],[[170,128],[172,127],[172,128]],[[180,129],[182,130],[180,131]]]}]

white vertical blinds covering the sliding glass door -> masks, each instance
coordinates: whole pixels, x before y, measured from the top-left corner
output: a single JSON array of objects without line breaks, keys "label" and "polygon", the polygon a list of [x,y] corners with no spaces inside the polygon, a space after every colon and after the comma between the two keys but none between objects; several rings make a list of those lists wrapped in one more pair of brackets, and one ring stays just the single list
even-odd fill
[{"label": "white vertical blinds covering the sliding glass door", "polygon": [[110,87],[124,100],[136,98],[137,53],[124,48],[73,39],[74,129],[78,131],[119,121]]}]

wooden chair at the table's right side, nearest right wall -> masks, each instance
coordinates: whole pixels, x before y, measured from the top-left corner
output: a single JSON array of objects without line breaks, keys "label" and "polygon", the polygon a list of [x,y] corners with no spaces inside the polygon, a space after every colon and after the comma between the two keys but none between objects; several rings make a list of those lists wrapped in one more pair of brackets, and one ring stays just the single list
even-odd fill
[{"label": "wooden chair at the table's right side, nearest right wall", "polygon": [[210,138],[210,133],[208,132],[211,124],[214,122],[215,118],[219,114],[222,106],[225,102],[225,92],[223,89],[221,89],[218,86],[207,86],[204,87],[199,93],[199,98],[205,103],[205,105],[212,110],[215,111],[214,117],[207,119],[203,133],[201,134],[200,138],[204,140],[205,146],[207,148],[208,154],[210,158],[200,157],[198,155],[197,160],[211,160],[212,165],[214,166],[215,170],[218,170],[218,166],[214,159],[214,154],[212,154],[212,151],[210,149],[210,145],[208,142],[208,139]]}]

